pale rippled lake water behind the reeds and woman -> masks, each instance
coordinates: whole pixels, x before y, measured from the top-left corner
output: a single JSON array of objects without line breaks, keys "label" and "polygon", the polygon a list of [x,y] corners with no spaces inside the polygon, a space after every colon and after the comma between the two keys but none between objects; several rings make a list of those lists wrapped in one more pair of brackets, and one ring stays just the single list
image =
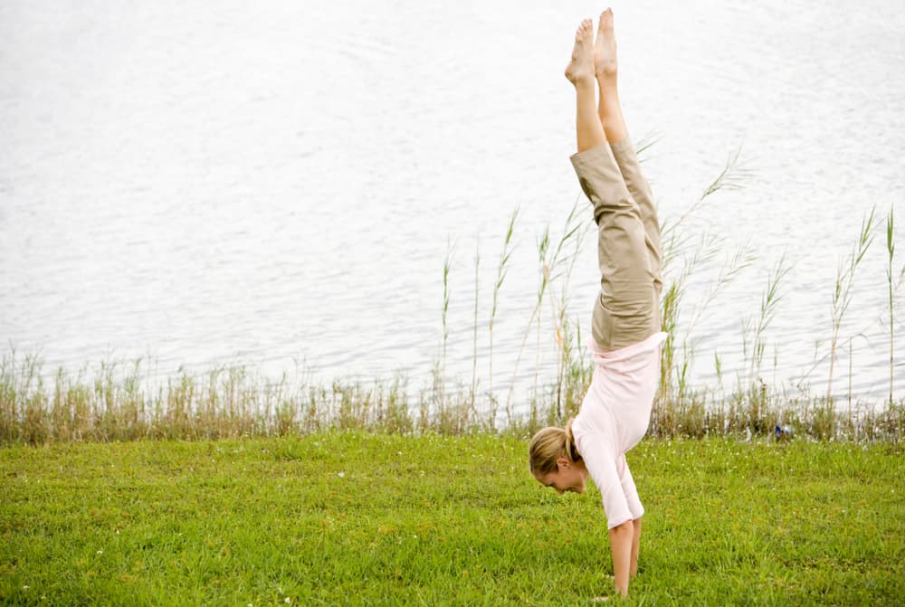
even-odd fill
[{"label": "pale rippled lake water behind the reeds and woman", "polygon": [[[480,251],[486,386],[491,285],[519,205],[494,327],[494,384],[506,389],[536,297],[537,235],[557,232],[579,194],[562,71],[578,20],[601,8],[0,5],[0,340],[51,368],[148,356],[163,375],[240,363],[419,384],[440,351],[452,246],[448,375],[470,384]],[[837,265],[873,205],[882,217],[896,208],[905,259],[905,13],[878,0],[645,0],[614,12],[629,128],[658,138],[644,166],[662,218],[681,216],[739,147],[754,173],[682,229],[724,239],[691,280],[686,319],[723,257],[744,242],[757,253],[700,313],[695,381],[716,383],[714,353],[725,383],[747,373],[742,322],[785,253],[795,266],[763,373],[819,394]],[[866,401],[889,390],[875,240],[835,383],[842,394],[851,379]],[[589,239],[568,291],[585,327],[594,255]],[[541,346],[550,315],[545,305]],[[546,373],[552,349],[541,350]],[[519,385],[536,363],[530,347]]]}]

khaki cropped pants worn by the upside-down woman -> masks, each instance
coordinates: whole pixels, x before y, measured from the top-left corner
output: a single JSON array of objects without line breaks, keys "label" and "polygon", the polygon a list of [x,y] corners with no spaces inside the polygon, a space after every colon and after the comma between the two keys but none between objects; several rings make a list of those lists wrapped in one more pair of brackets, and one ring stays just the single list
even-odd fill
[{"label": "khaki cropped pants worn by the upside-down woman", "polygon": [[628,138],[571,160],[597,223],[600,295],[591,333],[601,349],[617,350],[660,330],[660,223]]}]

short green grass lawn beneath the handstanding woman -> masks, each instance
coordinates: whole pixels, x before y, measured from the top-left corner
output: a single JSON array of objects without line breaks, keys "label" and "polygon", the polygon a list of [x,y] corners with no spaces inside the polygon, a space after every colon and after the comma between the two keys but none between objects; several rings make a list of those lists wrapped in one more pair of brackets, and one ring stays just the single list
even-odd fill
[{"label": "short green grass lawn beneath the handstanding woman", "polygon": [[[0,450],[4,604],[590,604],[599,494],[526,441],[322,432]],[[900,444],[643,441],[627,604],[900,604]]]}]

